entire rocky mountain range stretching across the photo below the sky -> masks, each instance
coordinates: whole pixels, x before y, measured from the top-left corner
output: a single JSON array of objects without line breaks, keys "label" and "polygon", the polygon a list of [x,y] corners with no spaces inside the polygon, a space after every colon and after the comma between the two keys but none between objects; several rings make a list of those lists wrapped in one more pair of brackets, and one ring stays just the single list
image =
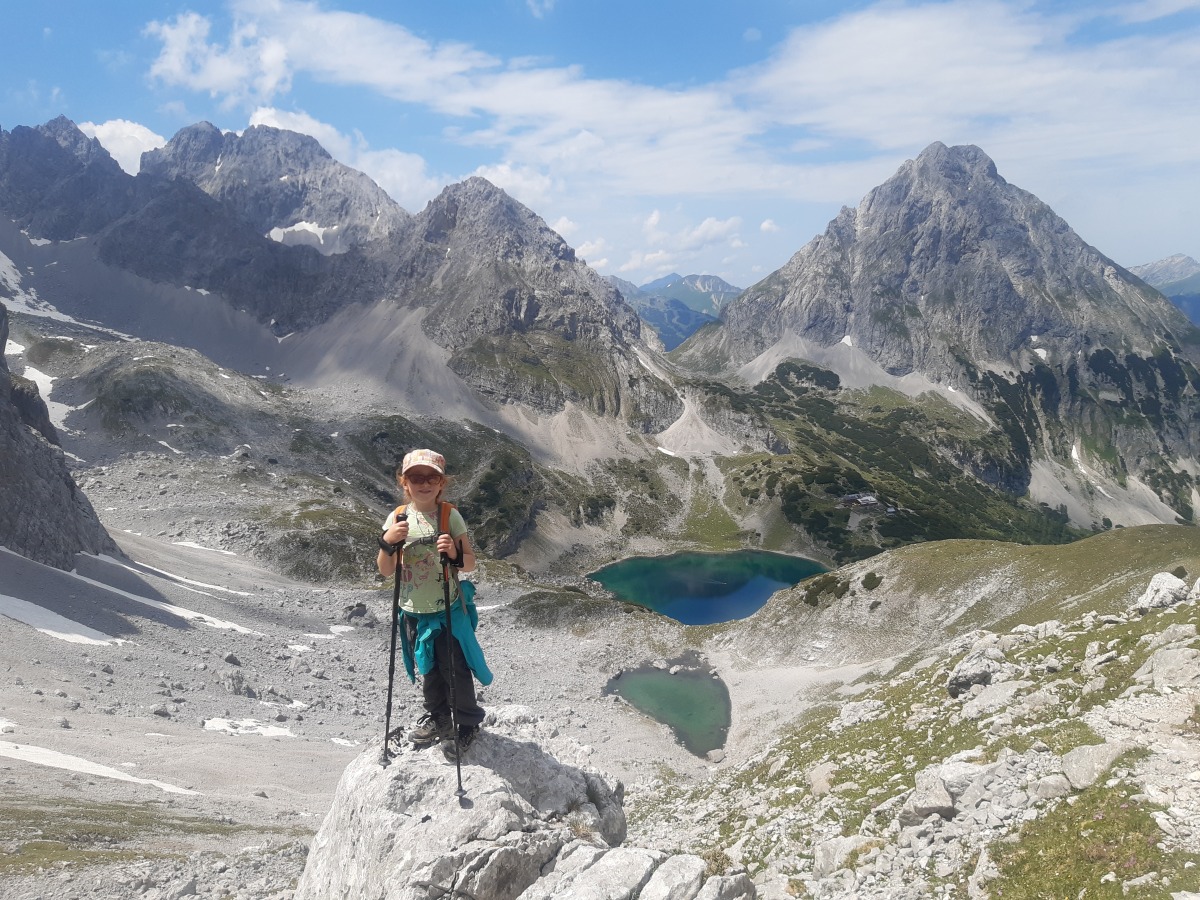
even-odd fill
[{"label": "entire rocky mountain range stretching across the photo below the sky", "polygon": [[[192,421],[198,458],[253,431],[371,506],[401,436],[427,434],[470,448],[484,550],[532,568],[671,535],[830,560],[1055,541],[1200,503],[1200,332],[973,146],[932,144],[743,292],[604,278],[479,178],[409,214],[265,127],[191,126],[136,178],[66,119],[0,131],[0,300],[30,340],[52,314],[203,354],[34,348],[68,421],[104,431],[67,431],[79,464],[180,450]],[[211,389],[223,368],[283,392],[257,409],[253,380]],[[298,397],[292,424],[292,386],[336,400]]]}]

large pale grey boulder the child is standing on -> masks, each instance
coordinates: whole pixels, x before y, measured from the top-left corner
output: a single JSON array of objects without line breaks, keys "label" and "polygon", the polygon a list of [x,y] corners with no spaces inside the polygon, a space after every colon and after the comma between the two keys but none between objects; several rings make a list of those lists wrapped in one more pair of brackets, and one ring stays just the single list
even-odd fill
[{"label": "large pale grey boulder the child is standing on", "polygon": [[524,707],[488,714],[462,797],[439,749],[400,749],[385,768],[371,748],[342,775],[295,900],[755,896],[744,874],[706,878],[700,857],[622,846],[624,788],[586,757]]}]

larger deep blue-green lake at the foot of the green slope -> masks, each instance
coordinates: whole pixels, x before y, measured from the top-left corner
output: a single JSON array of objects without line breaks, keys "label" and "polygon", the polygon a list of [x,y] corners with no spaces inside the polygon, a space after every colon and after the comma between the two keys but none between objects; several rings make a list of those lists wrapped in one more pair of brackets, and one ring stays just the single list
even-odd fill
[{"label": "larger deep blue-green lake at the foot of the green slope", "polygon": [[823,565],[803,557],[739,550],[631,557],[588,577],[622,600],[676,622],[712,625],[752,616],[776,590],[823,571]]}]

